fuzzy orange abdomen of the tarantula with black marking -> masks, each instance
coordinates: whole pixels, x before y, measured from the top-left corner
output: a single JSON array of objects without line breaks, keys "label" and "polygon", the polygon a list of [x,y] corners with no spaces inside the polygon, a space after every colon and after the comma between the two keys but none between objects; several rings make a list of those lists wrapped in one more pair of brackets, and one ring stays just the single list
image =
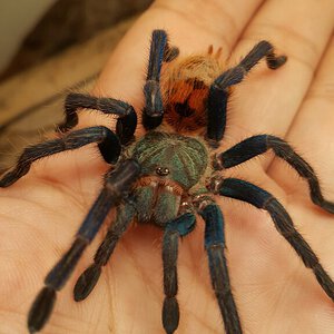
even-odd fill
[{"label": "fuzzy orange abdomen of the tarantula with black marking", "polygon": [[195,131],[206,126],[209,86],[223,72],[219,50],[189,56],[166,65],[161,75],[165,121],[176,131]]}]

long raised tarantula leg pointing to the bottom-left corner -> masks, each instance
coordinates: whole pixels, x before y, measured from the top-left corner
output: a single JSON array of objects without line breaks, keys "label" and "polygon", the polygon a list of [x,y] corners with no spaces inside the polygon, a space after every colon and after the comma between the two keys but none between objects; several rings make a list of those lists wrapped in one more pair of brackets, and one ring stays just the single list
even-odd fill
[{"label": "long raised tarantula leg pointing to the bottom-left corner", "polygon": [[107,174],[105,187],[79,228],[72,246],[47,275],[46,286],[38,294],[30,308],[28,315],[30,333],[40,331],[43,327],[51,314],[56,292],[63,287],[85,248],[98,233],[109,210],[128,196],[127,194],[139,174],[140,167],[135,160],[126,160],[115,171]]}]

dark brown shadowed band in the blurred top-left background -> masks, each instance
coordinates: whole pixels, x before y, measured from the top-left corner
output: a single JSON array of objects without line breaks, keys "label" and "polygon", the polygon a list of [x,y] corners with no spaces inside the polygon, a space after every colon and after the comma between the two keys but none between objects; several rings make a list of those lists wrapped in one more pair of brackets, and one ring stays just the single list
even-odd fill
[{"label": "dark brown shadowed band in the blurred top-left background", "polygon": [[27,36],[0,81],[144,11],[153,0],[58,0]]}]

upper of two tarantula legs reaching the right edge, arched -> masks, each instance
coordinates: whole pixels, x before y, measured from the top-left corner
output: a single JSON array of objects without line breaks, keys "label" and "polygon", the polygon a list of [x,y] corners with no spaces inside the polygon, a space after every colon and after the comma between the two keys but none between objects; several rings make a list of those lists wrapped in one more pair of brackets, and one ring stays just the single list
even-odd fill
[{"label": "upper of two tarantula legs reaching the right edge, arched", "polygon": [[277,157],[284,159],[301,177],[307,180],[314,204],[334,214],[334,203],[324,199],[313,168],[285,140],[278,137],[258,135],[247,138],[216,156],[214,165],[216,169],[230,168],[264,154],[268,149],[273,149]]}]

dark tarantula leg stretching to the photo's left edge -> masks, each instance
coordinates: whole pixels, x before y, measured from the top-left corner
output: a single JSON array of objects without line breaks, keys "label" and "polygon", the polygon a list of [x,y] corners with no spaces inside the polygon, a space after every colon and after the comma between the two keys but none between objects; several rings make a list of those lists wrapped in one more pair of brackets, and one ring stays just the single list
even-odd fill
[{"label": "dark tarantula leg stretching to the photo's left edge", "polygon": [[0,178],[0,188],[6,188],[24,176],[33,161],[65,151],[97,143],[100,154],[108,164],[115,164],[120,155],[118,137],[106,127],[91,127],[72,131],[60,139],[28,146],[20,156],[16,167]]}]

